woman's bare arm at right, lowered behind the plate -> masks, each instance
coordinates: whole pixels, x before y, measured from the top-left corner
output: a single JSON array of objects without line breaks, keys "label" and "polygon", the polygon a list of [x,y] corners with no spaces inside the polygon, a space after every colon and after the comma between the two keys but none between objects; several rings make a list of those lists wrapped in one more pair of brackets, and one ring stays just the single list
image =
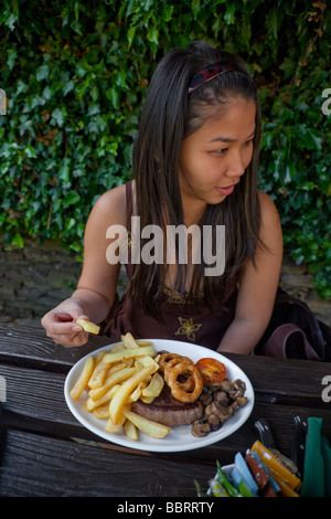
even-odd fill
[{"label": "woman's bare arm at right, lowered behind the plate", "polygon": [[256,265],[249,261],[241,282],[235,318],[224,335],[218,351],[250,353],[267,328],[274,309],[282,261],[282,233],[271,199],[259,194],[261,208],[260,239]]}]

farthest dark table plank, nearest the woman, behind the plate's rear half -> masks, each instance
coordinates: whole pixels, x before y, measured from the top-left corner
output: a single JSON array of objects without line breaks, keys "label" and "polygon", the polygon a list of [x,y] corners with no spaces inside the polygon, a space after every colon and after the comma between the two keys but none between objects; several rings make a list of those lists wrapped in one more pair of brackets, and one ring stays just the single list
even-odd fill
[{"label": "farthest dark table plank, nearest the woman, behind the plate's rear half", "polygon": [[[63,348],[38,328],[0,325],[0,362],[67,373],[86,353],[105,346],[108,338],[92,337],[81,348]],[[270,357],[226,353],[247,374],[258,400],[269,403],[325,409],[321,399],[322,380],[331,374],[330,362],[282,360]]]}]

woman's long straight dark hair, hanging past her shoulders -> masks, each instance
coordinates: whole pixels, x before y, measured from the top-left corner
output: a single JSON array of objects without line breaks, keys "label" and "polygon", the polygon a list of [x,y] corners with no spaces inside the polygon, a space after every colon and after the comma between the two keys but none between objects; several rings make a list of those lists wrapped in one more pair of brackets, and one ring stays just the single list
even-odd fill
[{"label": "woman's long straight dark hair, hanging past her shoulders", "polygon": [[[188,95],[192,77],[205,66],[227,61],[234,72],[222,74]],[[186,49],[170,51],[159,63],[151,78],[143,105],[139,131],[134,146],[132,166],[136,180],[137,214],[141,229],[157,224],[183,224],[183,208],[179,186],[179,158],[185,137],[196,131],[211,117],[210,106],[226,104],[234,97],[254,99],[256,133],[253,157],[241,182],[222,203],[209,204],[200,225],[225,225],[226,263],[222,276],[203,275],[205,265],[194,265],[191,293],[202,287],[205,304],[226,300],[241,279],[248,258],[254,262],[259,242],[260,213],[257,189],[258,152],[260,144],[260,109],[256,86],[243,61],[203,42]],[[216,112],[216,110],[215,110]],[[220,110],[217,110],[220,116]],[[213,241],[214,243],[214,241]],[[141,242],[142,245],[142,242]],[[137,304],[160,316],[159,304],[167,272],[166,264],[135,266],[131,279],[132,297]],[[182,292],[185,265],[178,265],[175,286]]]}]

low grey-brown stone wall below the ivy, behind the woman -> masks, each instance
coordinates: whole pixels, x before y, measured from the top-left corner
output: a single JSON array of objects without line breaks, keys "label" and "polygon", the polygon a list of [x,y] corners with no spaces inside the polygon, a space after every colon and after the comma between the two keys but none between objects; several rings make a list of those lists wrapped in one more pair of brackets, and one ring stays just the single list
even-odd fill
[{"label": "low grey-brown stone wall below the ivy, behind the woman", "polygon": [[[7,251],[0,239],[0,322],[40,326],[41,317],[68,297],[81,274],[75,254],[54,242],[26,241],[24,248]],[[119,282],[119,295],[126,276]],[[331,326],[331,301],[321,300],[305,265],[285,258],[281,286],[306,300],[312,311]]]}]

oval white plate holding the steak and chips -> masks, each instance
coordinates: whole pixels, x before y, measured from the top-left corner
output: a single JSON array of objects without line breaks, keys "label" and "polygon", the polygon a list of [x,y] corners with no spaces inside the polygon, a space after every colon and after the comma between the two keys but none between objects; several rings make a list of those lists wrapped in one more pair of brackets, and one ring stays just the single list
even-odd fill
[{"label": "oval white plate holding the steak and chips", "polygon": [[[226,438],[235,431],[237,431],[248,419],[253,411],[254,406],[254,390],[250,381],[246,374],[238,368],[234,362],[228,360],[226,357],[221,353],[210,350],[207,348],[195,346],[190,342],[181,342],[177,340],[164,340],[164,339],[146,339],[153,343],[156,351],[166,350],[172,353],[180,353],[185,357],[190,357],[194,362],[204,357],[211,357],[223,362],[227,370],[227,378],[233,381],[235,379],[241,379],[246,383],[246,393],[248,402],[245,407],[241,407],[235,411],[233,416],[228,419],[224,425],[215,432],[209,433],[203,438],[199,438],[192,435],[191,425],[177,426],[172,427],[169,434],[162,439],[151,438],[143,433],[139,432],[139,439],[132,441],[129,439],[124,433],[110,434],[105,432],[105,425],[107,420],[99,420],[94,416],[93,413],[88,413],[84,410],[83,405],[87,399],[86,391],[83,392],[78,400],[73,400],[70,396],[72,388],[75,385],[76,380],[78,379],[83,366],[85,363],[85,356],[81,359],[70,371],[64,384],[64,395],[68,409],[73,415],[81,422],[86,428],[92,431],[94,434],[100,436],[108,442],[116,443],[126,447],[140,449],[140,451],[150,451],[150,452],[180,452],[180,451],[191,451],[193,448],[204,447],[211,445],[215,442]],[[97,351],[104,351],[110,349],[113,345],[99,348],[95,350],[93,354]]]}]

